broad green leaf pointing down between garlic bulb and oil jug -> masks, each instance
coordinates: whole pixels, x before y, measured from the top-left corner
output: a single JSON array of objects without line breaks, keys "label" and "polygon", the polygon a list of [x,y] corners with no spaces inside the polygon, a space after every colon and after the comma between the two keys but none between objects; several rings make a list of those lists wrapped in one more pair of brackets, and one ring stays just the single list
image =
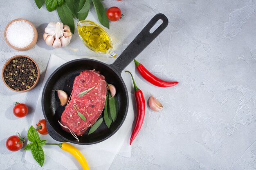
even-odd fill
[{"label": "broad green leaf pointing down between garlic bulb and oil jug", "polygon": [[64,3],[61,7],[57,7],[58,16],[61,19],[61,22],[63,24],[66,24],[70,27],[70,30],[72,33],[74,33],[75,24],[73,15],[70,11],[70,9],[67,7],[67,4]]}]

